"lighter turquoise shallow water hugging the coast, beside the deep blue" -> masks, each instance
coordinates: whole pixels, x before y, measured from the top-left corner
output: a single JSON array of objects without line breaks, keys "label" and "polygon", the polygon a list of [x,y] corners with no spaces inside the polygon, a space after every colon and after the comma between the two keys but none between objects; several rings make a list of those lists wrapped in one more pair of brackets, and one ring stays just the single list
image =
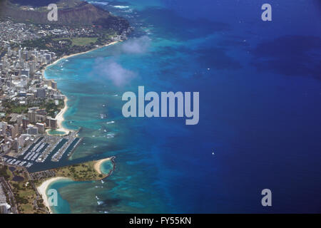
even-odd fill
[{"label": "lighter turquoise shallow water hugging the coast, beside the deep blue", "polygon": [[[68,58],[46,70],[46,77],[54,78],[59,84],[59,89],[68,96],[68,110],[64,115],[63,125],[75,130],[81,128],[80,136],[84,138],[71,160],[83,157],[98,159],[116,155],[117,169],[112,177],[108,177],[106,182],[99,185],[95,182],[79,185],[64,182],[61,185],[51,186],[58,189],[61,198],[66,199],[61,201],[63,202],[61,208],[59,206],[54,209],[55,212],[165,211],[161,197],[164,193],[156,187],[158,180],[155,180],[155,175],[158,171],[150,163],[154,159],[153,155],[144,155],[146,151],[151,150],[149,148],[152,147],[153,138],[147,143],[136,145],[136,142],[145,137],[145,133],[140,133],[138,129],[143,130],[145,127],[142,128],[141,120],[131,120],[131,123],[128,123],[128,120],[121,115],[120,90],[124,88],[118,88],[110,81],[99,78],[93,70],[97,58],[111,58],[121,46],[119,43]],[[140,68],[137,66],[139,59],[131,61],[131,55],[124,55],[123,58],[123,61],[131,66]],[[141,58],[146,56],[141,55]],[[142,70],[153,71],[152,68],[145,67]],[[153,84],[153,79],[149,83]],[[136,89],[135,87],[126,85],[126,89]],[[101,119],[102,113],[106,114],[106,119]],[[78,197],[78,194],[81,196]],[[101,199],[99,204],[96,197]]]}]

